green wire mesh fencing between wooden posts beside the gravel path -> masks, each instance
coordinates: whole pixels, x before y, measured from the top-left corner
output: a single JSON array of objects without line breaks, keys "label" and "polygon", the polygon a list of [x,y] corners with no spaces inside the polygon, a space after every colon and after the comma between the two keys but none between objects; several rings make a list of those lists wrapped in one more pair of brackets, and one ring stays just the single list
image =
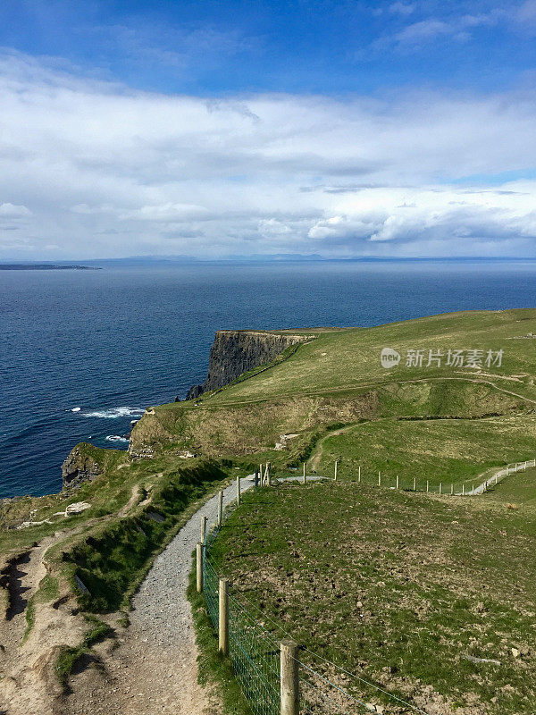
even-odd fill
[{"label": "green wire mesh fencing between wooden posts beside the gravel path", "polygon": [[[205,534],[203,592],[214,630],[220,627],[220,574],[210,550],[219,533],[218,526]],[[247,603],[247,606],[244,605]],[[264,614],[240,594],[227,596],[229,656],[239,686],[253,715],[281,715],[281,640],[290,638],[281,624]],[[297,668],[299,715],[360,715],[363,713],[422,713],[412,703],[363,677],[340,668],[300,647],[293,659]],[[387,707],[386,707],[387,704]],[[292,711],[293,715],[294,712]]]}]

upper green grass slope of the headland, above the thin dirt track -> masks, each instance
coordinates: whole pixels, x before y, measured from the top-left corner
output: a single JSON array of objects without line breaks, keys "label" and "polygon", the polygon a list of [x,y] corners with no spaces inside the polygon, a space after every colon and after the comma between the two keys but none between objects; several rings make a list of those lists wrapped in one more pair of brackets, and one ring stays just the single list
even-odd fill
[{"label": "upper green grass slope of the headland, above the thin dirt track", "polygon": [[[314,332],[314,331],[312,331]],[[297,349],[295,355],[251,380],[208,398],[214,404],[239,400],[267,400],[281,395],[356,388],[364,383],[391,383],[437,377],[473,378],[474,371],[447,366],[406,367],[408,349],[503,349],[503,365],[484,372],[498,375],[498,383],[536,399],[534,348],[521,340],[536,332],[536,310],[468,311],[433,315],[417,320],[366,329],[322,332]],[[398,367],[381,367],[381,349],[391,347],[403,356]],[[515,381],[500,376],[522,375]]]}]

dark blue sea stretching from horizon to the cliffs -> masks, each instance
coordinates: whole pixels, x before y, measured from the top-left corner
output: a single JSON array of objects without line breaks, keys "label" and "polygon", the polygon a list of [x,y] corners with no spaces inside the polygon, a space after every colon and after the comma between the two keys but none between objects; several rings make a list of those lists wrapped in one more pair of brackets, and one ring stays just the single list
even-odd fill
[{"label": "dark blue sea stretching from horizon to the cliffs", "polygon": [[218,329],[535,306],[533,262],[0,271],[0,497],[59,491],[77,442],[126,449],[131,419],[204,380]]}]

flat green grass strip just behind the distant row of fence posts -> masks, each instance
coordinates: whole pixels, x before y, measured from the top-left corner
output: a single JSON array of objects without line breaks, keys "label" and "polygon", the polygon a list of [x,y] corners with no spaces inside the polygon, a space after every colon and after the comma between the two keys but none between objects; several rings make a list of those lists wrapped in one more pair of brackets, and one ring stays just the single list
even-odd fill
[{"label": "flat green grass strip just behind the distant row of fence posts", "polygon": [[[332,475],[339,459],[339,478],[424,490],[426,481],[445,491],[479,483],[479,475],[508,462],[536,456],[536,420],[533,415],[489,417],[479,420],[392,420],[380,419],[350,426],[325,438],[313,454],[316,471]],[[480,481],[483,481],[482,479]]]}]

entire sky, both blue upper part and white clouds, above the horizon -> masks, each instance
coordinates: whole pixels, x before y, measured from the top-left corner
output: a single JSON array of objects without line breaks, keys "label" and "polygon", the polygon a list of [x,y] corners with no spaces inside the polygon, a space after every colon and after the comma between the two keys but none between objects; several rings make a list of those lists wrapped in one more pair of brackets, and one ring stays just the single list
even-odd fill
[{"label": "entire sky, both blue upper part and white clouds, above the horizon", "polygon": [[0,4],[0,260],[536,257],[536,0]]}]

